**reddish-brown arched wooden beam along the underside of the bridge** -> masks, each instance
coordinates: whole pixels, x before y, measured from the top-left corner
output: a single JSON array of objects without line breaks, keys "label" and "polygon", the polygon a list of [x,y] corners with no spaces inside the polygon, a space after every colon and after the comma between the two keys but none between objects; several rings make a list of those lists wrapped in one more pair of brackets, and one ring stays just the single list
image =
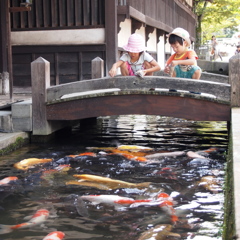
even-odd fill
[{"label": "reddish-brown arched wooden beam along the underside of the bridge", "polygon": [[127,114],[161,115],[193,121],[230,121],[231,119],[229,104],[177,96],[107,95],[47,105],[47,120],[78,120]]}]

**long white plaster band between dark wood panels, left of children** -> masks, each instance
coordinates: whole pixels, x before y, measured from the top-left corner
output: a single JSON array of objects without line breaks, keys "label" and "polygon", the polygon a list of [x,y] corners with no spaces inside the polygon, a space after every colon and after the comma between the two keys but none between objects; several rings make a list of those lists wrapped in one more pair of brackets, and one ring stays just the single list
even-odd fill
[{"label": "long white plaster band between dark wood panels, left of children", "polygon": [[105,29],[19,31],[11,33],[12,45],[104,44]]}]

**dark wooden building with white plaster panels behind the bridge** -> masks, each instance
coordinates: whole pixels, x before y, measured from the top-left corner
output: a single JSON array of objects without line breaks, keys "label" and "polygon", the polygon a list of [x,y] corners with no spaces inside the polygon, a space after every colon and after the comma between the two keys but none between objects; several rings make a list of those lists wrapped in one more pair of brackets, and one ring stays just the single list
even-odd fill
[{"label": "dark wooden building with white plaster panels behind the bridge", "polygon": [[[91,61],[100,57],[105,75],[118,60],[128,37],[137,32],[163,67],[170,48],[166,34],[187,29],[194,41],[193,0],[33,0],[31,11],[11,12],[14,86],[31,85],[31,62],[39,56],[51,64],[51,84],[91,78]],[[8,8],[24,0],[0,0],[0,74],[8,71]],[[0,76],[1,76],[0,75]]]}]

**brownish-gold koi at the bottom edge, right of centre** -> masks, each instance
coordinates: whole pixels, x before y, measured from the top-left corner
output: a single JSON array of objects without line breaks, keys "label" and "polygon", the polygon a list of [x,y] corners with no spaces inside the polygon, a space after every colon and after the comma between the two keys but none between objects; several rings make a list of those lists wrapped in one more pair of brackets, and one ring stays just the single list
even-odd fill
[{"label": "brownish-gold koi at the bottom edge, right of centre", "polygon": [[154,228],[147,230],[142,233],[138,240],[165,240],[168,237],[174,237],[174,239],[181,238],[178,233],[173,233],[172,225],[170,224],[159,224]]}]

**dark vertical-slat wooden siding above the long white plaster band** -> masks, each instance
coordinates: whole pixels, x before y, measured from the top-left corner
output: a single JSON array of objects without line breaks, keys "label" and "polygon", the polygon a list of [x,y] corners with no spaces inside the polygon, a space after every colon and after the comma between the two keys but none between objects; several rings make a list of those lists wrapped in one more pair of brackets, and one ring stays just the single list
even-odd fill
[{"label": "dark vertical-slat wooden siding above the long white plaster band", "polygon": [[[20,6],[19,0],[10,1]],[[12,31],[103,27],[104,0],[35,0],[31,11],[11,17]]]}]

